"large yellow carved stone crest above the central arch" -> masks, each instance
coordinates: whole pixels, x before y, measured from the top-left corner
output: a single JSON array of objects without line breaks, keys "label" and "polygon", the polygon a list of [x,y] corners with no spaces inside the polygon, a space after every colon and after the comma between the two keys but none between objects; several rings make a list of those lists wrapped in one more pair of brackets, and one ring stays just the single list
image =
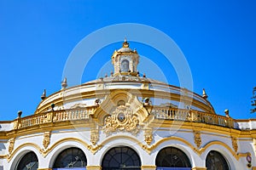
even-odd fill
[{"label": "large yellow carved stone crest above the central arch", "polygon": [[139,131],[139,119],[133,114],[129,104],[119,105],[111,116],[104,120],[103,132],[109,135],[116,131],[125,131],[137,134]]}]

